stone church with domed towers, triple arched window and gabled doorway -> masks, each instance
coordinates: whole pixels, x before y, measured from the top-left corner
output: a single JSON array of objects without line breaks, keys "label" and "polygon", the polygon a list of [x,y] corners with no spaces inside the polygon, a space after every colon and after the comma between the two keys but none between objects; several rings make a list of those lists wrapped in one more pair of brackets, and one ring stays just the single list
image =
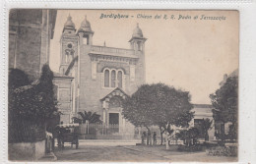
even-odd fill
[{"label": "stone church with domed towers, triple arched window and gabled doorway", "polygon": [[[87,18],[77,30],[69,16],[60,39],[59,75],[73,78],[72,86],[58,91],[66,97],[61,120],[72,122],[78,112],[99,114],[106,125],[119,125],[119,133],[132,129],[122,112],[122,101],[145,83],[145,42],[137,25],[129,40],[130,49],[94,45],[95,31]],[[64,94],[64,95],[63,95]]]}]

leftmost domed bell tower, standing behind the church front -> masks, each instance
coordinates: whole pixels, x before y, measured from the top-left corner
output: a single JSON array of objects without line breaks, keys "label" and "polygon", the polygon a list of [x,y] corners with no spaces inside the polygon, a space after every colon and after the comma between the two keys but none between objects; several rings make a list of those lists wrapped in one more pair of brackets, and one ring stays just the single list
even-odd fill
[{"label": "leftmost domed bell tower, standing behind the church front", "polygon": [[59,73],[64,75],[74,57],[77,56],[78,51],[78,36],[76,35],[75,24],[72,22],[70,15],[63,27],[60,44],[61,56]]}]

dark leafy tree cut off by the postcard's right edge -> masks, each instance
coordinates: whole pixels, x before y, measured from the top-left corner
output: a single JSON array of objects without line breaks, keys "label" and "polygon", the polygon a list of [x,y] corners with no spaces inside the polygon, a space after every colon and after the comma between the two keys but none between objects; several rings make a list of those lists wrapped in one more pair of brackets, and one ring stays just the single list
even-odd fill
[{"label": "dark leafy tree cut off by the postcard's right edge", "polygon": [[[231,122],[233,130],[237,131],[237,101],[238,101],[238,77],[227,78],[224,85],[221,86],[214,94],[210,95],[213,104],[213,114],[215,122],[222,122],[223,125]],[[224,127],[224,126],[223,126]],[[223,128],[224,141],[224,128]]]}]

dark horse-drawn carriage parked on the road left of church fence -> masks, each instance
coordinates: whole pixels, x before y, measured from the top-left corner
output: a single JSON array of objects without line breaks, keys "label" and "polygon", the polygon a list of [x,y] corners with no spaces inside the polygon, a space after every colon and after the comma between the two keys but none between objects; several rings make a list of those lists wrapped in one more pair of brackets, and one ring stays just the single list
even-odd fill
[{"label": "dark horse-drawn carriage parked on the road left of church fence", "polygon": [[57,126],[58,130],[58,147],[64,148],[64,143],[71,143],[76,145],[78,149],[79,145],[79,124],[61,124]]}]

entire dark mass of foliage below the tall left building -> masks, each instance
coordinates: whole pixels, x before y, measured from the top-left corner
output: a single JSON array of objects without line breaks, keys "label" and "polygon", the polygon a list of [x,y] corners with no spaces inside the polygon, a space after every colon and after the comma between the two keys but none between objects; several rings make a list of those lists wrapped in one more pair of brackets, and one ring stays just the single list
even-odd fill
[{"label": "entire dark mass of foliage below the tall left building", "polygon": [[40,79],[35,82],[29,82],[29,76],[18,69],[10,70],[9,80],[10,133],[16,133],[19,129],[11,127],[21,122],[45,129],[46,123],[58,115],[49,66],[42,67]]}]

